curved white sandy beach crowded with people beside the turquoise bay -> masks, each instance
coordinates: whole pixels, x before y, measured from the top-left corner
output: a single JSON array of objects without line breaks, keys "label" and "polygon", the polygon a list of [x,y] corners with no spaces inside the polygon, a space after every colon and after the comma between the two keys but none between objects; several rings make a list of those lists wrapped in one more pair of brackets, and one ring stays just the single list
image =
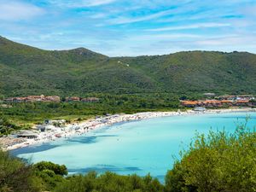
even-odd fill
[{"label": "curved white sandy beach crowded with people beside the turquoise bay", "polygon": [[[60,138],[70,138],[79,135],[84,135],[90,131],[94,131],[103,126],[114,125],[117,123],[125,123],[132,120],[141,119],[153,119],[159,117],[172,117],[181,115],[196,115],[196,114],[211,114],[211,113],[238,113],[238,112],[256,112],[255,108],[226,108],[226,109],[207,109],[205,112],[197,112],[194,110],[187,111],[173,111],[173,112],[143,112],[133,114],[113,114],[106,117],[100,117],[95,119],[88,119],[77,124],[68,124],[63,127],[55,127],[52,125],[52,130],[38,132],[37,138],[15,138],[8,137],[9,143],[4,145],[3,150],[9,151],[17,148],[25,148],[41,143],[49,143]],[[35,129],[35,127],[34,127]],[[6,137],[0,138],[0,140],[7,139]]]}]

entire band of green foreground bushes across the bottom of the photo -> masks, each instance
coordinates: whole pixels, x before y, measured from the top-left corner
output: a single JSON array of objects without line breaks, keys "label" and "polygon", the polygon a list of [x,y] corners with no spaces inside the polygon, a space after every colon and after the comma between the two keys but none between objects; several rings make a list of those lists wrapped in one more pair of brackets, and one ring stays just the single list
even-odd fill
[{"label": "entire band of green foreground bushes across the bottom of the photo", "polygon": [[112,172],[67,176],[66,166],[51,162],[29,165],[0,152],[1,192],[254,192],[256,191],[256,132],[238,126],[197,135],[181,160],[166,173],[165,183],[147,175]]}]

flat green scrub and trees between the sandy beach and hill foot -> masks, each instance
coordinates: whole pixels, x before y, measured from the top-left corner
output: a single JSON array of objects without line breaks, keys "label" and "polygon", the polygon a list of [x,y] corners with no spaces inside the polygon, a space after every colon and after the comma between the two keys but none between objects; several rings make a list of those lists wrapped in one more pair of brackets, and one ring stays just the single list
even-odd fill
[{"label": "flat green scrub and trees between the sandy beach and hill foot", "polygon": [[[137,113],[145,111],[168,111],[179,107],[177,97],[165,94],[98,95],[99,102],[25,102],[6,103],[0,106],[0,119],[9,119],[13,124],[43,123],[44,119],[83,120],[107,113]],[[1,120],[0,120],[1,124]]]}]

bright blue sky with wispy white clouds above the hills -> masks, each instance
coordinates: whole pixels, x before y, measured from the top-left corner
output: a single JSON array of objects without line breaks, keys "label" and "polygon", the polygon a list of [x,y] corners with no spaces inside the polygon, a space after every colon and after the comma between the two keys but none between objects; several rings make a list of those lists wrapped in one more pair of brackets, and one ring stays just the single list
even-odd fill
[{"label": "bright blue sky with wispy white clouds above the hills", "polygon": [[0,35],[109,56],[256,53],[256,0],[0,0]]}]

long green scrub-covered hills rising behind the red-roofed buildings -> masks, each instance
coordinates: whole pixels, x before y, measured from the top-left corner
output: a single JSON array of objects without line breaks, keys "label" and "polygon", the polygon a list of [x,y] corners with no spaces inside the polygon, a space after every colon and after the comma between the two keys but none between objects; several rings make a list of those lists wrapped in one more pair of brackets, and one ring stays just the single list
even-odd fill
[{"label": "long green scrub-covered hills rising behind the red-roofed buildings", "polygon": [[0,37],[0,95],[256,93],[256,55],[189,51],[108,57],[79,48],[50,51]]}]

